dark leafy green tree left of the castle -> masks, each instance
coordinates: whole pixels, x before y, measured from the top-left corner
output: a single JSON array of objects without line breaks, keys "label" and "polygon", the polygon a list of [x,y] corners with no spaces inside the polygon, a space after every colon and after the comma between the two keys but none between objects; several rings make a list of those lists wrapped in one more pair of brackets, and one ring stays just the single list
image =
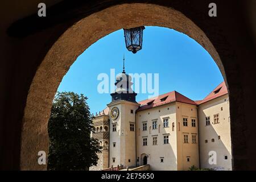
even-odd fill
[{"label": "dark leafy green tree left of the castle", "polygon": [[88,170],[96,165],[100,152],[87,97],[73,92],[57,92],[48,122],[49,170]]}]

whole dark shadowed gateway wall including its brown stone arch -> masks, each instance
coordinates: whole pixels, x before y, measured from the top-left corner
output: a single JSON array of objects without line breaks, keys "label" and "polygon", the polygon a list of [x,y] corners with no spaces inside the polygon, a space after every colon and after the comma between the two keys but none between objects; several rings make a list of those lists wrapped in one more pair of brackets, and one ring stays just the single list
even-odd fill
[{"label": "whole dark shadowed gateway wall including its brown stone arch", "polygon": [[[95,0],[79,1],[77,6],[67,0],[60,7],[56,4],[56,13],[47,11],[47,20],[39,21],[49,22],[44,28],[29,23],[33,19],[29,15],[35,13],[33,7],[37,5],[37,1],[31,2],[23,2],[28,12],[18,11],[9,22],[3,21],[7,33],[2,39],[5,51],[1,52],[6,61],[0,72],[1,78],[6,79],[1,81],[0,90],[5,97],[0,108],[1,169],[47,169],[38,164],[38,152],[48,151],[47,124],[63,76],[98,39],[121,28],[137,26],[173,28],[208,51],[229,90],[234,169],[255,169],[256,127],[250,104],[256,101],[255,85],[251,84],[255,82],[255,59],[251,57],[256,55],[242,13],[232,14],[240,11],[242,2],[216,0],[218,16],[209,19],[208,0]],[[8,11],[6,8],[4,12]],[[16,28],[13,26],[13,34],[8,34],[8,27],[18,19],[21,21],[17,21]],[[34,20],[38,21],[37,14]],[[27,31],[29,28],[32,31]],[[27,36],[15,38],[14,34]]]}]

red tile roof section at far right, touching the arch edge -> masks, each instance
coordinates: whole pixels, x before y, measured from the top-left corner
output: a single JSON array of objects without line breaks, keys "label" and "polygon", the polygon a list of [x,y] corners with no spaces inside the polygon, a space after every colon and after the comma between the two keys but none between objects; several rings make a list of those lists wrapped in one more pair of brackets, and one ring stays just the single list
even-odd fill
[{"label": "red tile roof section at far right, touching the arch edge", "polygon": [[214,98],[224,96],[225,94],[228,94],[228,89],[226,88],[225,81],[223,81],[221,82],[220,85],[218,85],[215,89],[213,89],[213,91],[210,92],[208,96],[205,97],[199,104],[203,104],[207,101],[213,100]]}]

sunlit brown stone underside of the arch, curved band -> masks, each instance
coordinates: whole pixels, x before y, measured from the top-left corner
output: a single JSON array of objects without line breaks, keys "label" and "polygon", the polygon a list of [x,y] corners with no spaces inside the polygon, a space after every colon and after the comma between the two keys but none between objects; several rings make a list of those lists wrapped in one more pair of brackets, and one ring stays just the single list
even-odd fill
[{"label": "sunlit brown stone underside of the arch, curved band", "polygon": [[[137,18],[131,19],[131,16]],[[117,5],[98,11],[69,27],[49,49],[36,71],[22,121],[20,169],[46,169],[46,166],[39,166],[37,154],[38,151],[48,151],[47,124],[52,100],[76,58],[111,32],[137,26],[167,27],[188,35],[209,52],[226,81],[224,66],[213,44],[179,11],[144,3]]]}]

